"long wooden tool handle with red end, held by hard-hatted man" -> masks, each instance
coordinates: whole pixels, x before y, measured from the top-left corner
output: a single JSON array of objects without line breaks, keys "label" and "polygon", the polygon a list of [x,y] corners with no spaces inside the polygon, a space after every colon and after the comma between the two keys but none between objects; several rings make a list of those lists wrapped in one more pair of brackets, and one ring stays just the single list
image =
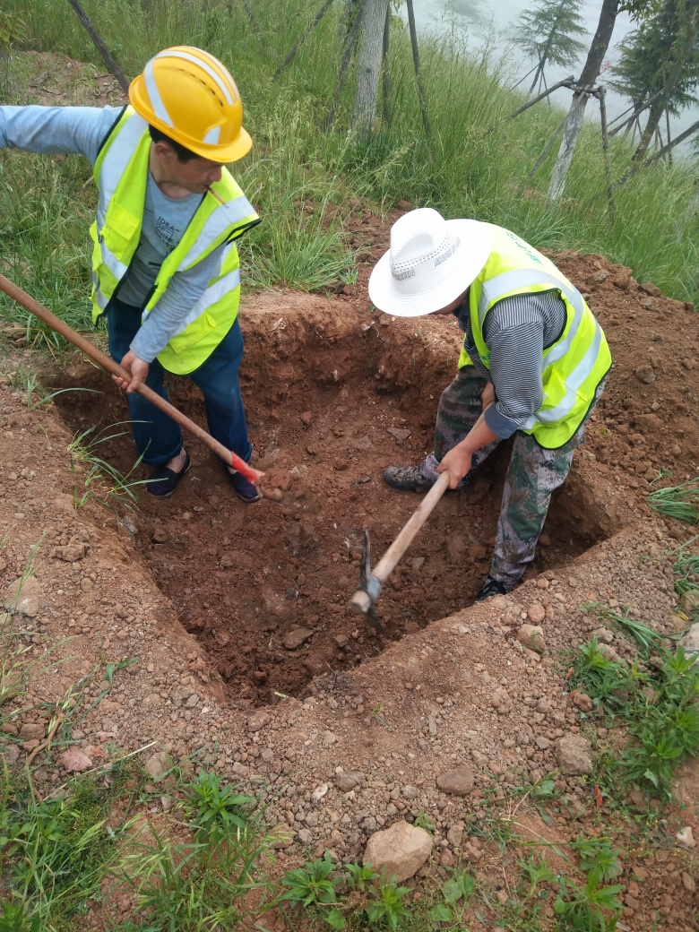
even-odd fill
[{"label": "long wooden tool handle with red end, held by hard-hatted man", "polygon": [[[107,372],[111,372],[113,376],[118,376],[130,382],[131,376],[126,369],[118,363],[115,363],[115,361],[103,353],[101,349],[97,349],[97,347],[93,343],[90,343],[84,336],[80,336],[80,334],[76,333],[73,327],[68,326],[60,317],[56,317],[48,308],[39,304],[31,295],[27,295],[27,293],[22,291],[21,288],[18,288],[16,284],[6,279],[4,275],[0,275],[0,289],[13,300],[17,301],[18,304],[21,304],[22,308],[31,311],[40,321],[47,323],[49,327],[52,327],[57,333],[64,336],[70,343],[77,347],[77,349],[82,349],[90,359],[93,359],[95,363],[101,365]],[[144,398],[147,398],[151,404],[155,404],[157,408],[164,411],[172,420],[177,421],[177,423],[185,427],[187,431],[193,433],[195,437],[199,437],[199,440],[203,441],[217,456],[221,457],[224,462],[238,470],[239,473],[242,473],[250,482],[255,483],[264,475],[264,473],[259,473],[251,466],[248,466],[244,459],[240,459],[237,454],[226,449],[223,444],[219,444],[210,433],[207,433],[202,427],[199,427],[199,424],[195,424],[193,420],[187,418],[186,415],[178,411],[174,405],[165,401],[164,398],[161,398],[160,395],[152,389],[149,389],[147,385],[139,386],[137,391],[140,395],[143,395]]]}]

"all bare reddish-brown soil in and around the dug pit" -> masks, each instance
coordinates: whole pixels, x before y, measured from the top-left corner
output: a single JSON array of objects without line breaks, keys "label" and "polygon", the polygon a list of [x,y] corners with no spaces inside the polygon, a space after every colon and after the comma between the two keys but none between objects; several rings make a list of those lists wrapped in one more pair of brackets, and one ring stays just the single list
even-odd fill
[{"label": "all bare reddish-brown soil in and around the dug pit", "polygon": [[[358,226],[378,254],[385,228],[374,218]],[[565,681],[551,659],[515,639],[520,625],[541,625],[557,659],[598,626],[583,609],[590,601],[629,606],[658,631],[681,624],[667,554],[690,529],[651,513],[645,495],[660,467],[672,469],[672,482],[696,473],[697,318],[599,256],[557,261],[591,295],[614,369],[555,496],[531,578],[511,596],[465,608],[487,571],[503,445],[420,532],[379,603],[383,640],[345,602],[363,527],[376,558],[418,502],[384,487],[381,472],[430,449],[439,393],[456,368],[455,322],[377,319],[365,270],[353,295],[248,298],[241,381],[256,465],[273,473],[279,496],[242,505],[221,465],[187,441],[193,470],[171,500],[141,502],[127,522],[133,534],[95,501],[75,512],[84,478],[65,452],[75,430],[126,416],[111,383],[76,361],[62,387],[99,387],[103,398],[67,393],[60,407],[33,412],[2,386],[0,538],[9,532],[9,541],[0,583],[7,590],[17,580],[47,530],[28,613],[15,624],[34,656],[76,636],[57,648],[74,659],[30,683],[24,706],[53,701],[105,659],[138,658],[75,726],[81,747],[158,740],[177,758],[201,748],[219,773],[268,781],[280,794],[269,817],[337,857],[354,857],[378,827],[422,809],[436,823],[441,863],[452,863],[464,850],[459,826],[477,815],[493,780],[502,788],[535,780],[566,760],[562,738],[580,737]],[[186,381],[174,380],[171,396],[203,420]],[[101,455],[126,470],[133,448],[121,438]],[[622,639],[606,637],[630,656]],[[6,725],[15,742],[6,758],[23,761],[47,724],[34,710]],[[586,726],[584,737],[593,751],[617,747],[618,735],[603,729]],[[466,795],[436,783],[455,768],[473,772],[473,784],[460,777]],[[38,781],[50,788],[63,775],[44,760]],[[690,771],[688,787],[692,779]],[[569,800],[560,830],[590,829],[584,774],[559,774],[556,786]],[[697,834],[695,813],[682,817]],[[626,879],[635,857],[624,861]],[[667,915],[690,923],[679,873],[675,883],[662,866],[644,865],[639,896],[650,904],[670,891]]]}]

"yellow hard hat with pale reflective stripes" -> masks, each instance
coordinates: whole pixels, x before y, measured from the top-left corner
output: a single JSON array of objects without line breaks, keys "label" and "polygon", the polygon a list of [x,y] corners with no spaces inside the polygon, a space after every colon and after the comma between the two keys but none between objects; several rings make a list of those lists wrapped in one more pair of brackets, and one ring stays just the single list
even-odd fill
[{"label": "yellow hard hat with pale reflective stripes", "polygon": [[201,158],[233,162],[253,144],[242,128],[242,103],[225,65],[209,52],[175,46],[158,52],[131,81],[140,117]]}]

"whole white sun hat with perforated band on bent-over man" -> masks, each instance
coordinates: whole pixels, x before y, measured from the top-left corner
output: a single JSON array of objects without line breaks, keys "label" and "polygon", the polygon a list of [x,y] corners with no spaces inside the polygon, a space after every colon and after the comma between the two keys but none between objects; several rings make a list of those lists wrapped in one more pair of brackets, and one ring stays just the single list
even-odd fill
[{"label": "whole white sun hat with perforated band on bent-over man", "polygon": [[466,291],[492,248],[487,224],[445,220],[432,207],[405,213],[391,226],[391,249],[369,279],[369,297],[396,317],[441,310]]}]

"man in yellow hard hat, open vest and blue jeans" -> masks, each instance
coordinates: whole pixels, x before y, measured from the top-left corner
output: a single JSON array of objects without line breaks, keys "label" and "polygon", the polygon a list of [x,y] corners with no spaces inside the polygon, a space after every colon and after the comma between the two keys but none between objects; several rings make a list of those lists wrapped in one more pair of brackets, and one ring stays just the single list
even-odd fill
[{"label": "man in yellow hard hat, open vest and blue jeans", "polygon": [[[106,315],[109,351],[130,371],[133,435],[168,498],[190,466],[178,425],[135,390],[167,397],[165,372],[203,392],[209,430],[250,459],[238,367],[240,263],[235,240],[259,223],[226,170],[253,144],[226,67],[200,48],[166,48],[118,107],[0,107],[0,148],[79,153],[100,192],[92,249],[92,319]],[[240,498],[261,494],[228,467]]]}]

